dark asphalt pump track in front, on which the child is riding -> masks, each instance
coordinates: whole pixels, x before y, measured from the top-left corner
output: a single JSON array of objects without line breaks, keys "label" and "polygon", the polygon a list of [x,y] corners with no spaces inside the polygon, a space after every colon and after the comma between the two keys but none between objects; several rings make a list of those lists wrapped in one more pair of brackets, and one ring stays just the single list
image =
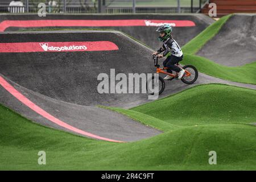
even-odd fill
[{"label": "dark asphalt pump track in front, on which the child is riding", "polygon": [[[81,130],[115,140],[134,141],[160,131],[96,105],[129,108],[148,100],[147,94],[99,94],[97,76],[114,68],[115,73],[154,73],[149,49],[117,31],[6,32],[0,42],[73,42],[108,40],[117,51],[0,53],[0,75],[24,96],[49,114]],[[198,84],[224,83],[256,89],[199,74],[195,84],[167,81],[160,96],[168,96]],[[63,129],[21,104],[0,86],[0,102],[24,117],[43,125]],[[63,129],[65,130],[65,129]]]}]

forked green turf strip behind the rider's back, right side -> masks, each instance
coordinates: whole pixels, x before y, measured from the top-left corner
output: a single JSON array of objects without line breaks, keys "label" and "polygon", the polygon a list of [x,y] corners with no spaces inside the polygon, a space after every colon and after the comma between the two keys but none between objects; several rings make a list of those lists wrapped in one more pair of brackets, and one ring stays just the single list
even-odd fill
[{"label": "forked green turf strip behind the rider's back, right side", "polygon": [[[210,40],[212,39],[226,21],[232,15],[223,16],[218,21],[211,24],[203,32],[193,38],[190,42],[182,47],[184,52],[184,59],[181,64],[192,64],[200,72],[208,75],[219,77],[225,80],[243,82],[246,84],[256,84],[255,68],[256,62],[251,64],[242,65],[240,67],[227,67],[214,63],[205,57],[196,56],[195,54]],[[256,61],[256,60],[255,60]]]}]

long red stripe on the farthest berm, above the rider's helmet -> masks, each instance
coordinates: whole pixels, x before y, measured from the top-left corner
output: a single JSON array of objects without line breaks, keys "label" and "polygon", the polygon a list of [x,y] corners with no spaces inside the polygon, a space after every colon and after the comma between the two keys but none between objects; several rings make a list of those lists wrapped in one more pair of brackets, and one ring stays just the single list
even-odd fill
[{"label": "long red stripe on the farthest berm, above the rider's helmet", "polygon": [[[146,22],[147,21],[147,22]],[[0,32],[8,27],[125,27],[125,26],[158,26],[157,23],[171,23],[175,27],[196,26],[191,20],[4,20],[0,23]]]}]

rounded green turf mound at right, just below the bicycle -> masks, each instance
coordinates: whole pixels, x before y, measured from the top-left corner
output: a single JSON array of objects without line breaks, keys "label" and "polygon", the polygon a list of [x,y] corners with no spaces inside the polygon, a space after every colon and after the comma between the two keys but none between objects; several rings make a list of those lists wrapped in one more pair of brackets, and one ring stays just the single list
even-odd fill
[{"label": "rounded green turf mound at right, just below the bicycle", "polygon": [[199,85],[132,110],[181,126],[256,123],[255,97],[256,90]]}]

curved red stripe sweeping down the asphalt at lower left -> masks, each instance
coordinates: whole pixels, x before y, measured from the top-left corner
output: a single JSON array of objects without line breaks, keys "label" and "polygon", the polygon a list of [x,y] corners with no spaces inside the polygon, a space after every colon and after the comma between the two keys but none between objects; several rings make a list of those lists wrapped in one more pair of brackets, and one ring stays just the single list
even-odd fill
[{"label": "curved red stripe sweeping down the asphalt at lower left", "polygon": [[16,99],[18,99],[20,102],[22,102],[24,105],[28,106],[30,109],[34,110],[36,113],[42,115],[44,118],[48,119],[49,121],[64,127],[65,129],[74,131],[76,133],[85,135],[87,137],[91,137],[91,138],[96,138],[96,139],[100,139],[100,140],[106,140],[109,142],[119,142],[119,143],[123,143],[122,141],[118,141],[118,140],[113,140],[113,139],[109,139],[109,138],[104,138],[104,137],[100,137],[98,135],[94,135],[91,133],[88,133],[86,131],[82,131],[80,129],[77,129],[76,127],[73,127],[71,125],[68,125],[67,123],[60,121],[60,119],[57,119],[55,117],[53,117],[53,115],[47,113],[47,111],[43,110],[42,108],[40,108],[38,105],[34,104],[32,101],[30,101],[27,97],[25,97],[22,93],[20,93],[18,90],[16,90],[13,86],[11,86],[9,84],[9,82],[7,82],[2,76],[0,76],[0,85],[3,86],[3,88],[5,88],[9,93],[11,93]]}]

